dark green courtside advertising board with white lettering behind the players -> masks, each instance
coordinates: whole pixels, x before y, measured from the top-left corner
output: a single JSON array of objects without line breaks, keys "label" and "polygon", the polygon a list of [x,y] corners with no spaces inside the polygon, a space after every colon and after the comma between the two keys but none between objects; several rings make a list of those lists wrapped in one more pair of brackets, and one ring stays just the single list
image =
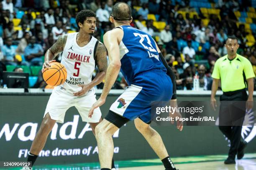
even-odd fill
[{"label": "dark green courtside advertising board with white lettering behind the players", "polygon": [[[0,93],[0,161],[26,160],[49,95],[50,93]],[[118,94],[114,94],[107,98],[105,105],[101,107],[103,117],[117,97]],[[210,96],[179,95],[179,100],[207,101]],[[182,132],[174,125],[154,128],[162,136],[171,157],[228,153],[228,141],[217,126],[185,126]],[[252,129],[255,131],[255,128],[256,125]],[[113,140],[115,160],[157,158],[133,122],[115,133]],[[255,152],[256,138],[253,138],[246,153]],[[67,111],[64,124],[54,126],[40,156],[37,165],[98,162],[95,137],[89,124],[82,122],[74,107]]]}]

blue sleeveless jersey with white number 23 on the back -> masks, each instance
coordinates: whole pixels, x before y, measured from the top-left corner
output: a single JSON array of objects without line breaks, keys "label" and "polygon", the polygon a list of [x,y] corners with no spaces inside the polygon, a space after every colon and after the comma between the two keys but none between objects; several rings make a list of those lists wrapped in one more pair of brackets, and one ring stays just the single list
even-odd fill
[{"label": "blue sleeveless jersey with white number 23 on the back", "polygon": [[[128,85],[141,85],[141,76],[151,70],[166,72],[154,39],[146,32],[131,27],[120,26],[123,29],[123,39],[119,44],[121,72]],[[153,76],[153,75],[152,75]]]}]

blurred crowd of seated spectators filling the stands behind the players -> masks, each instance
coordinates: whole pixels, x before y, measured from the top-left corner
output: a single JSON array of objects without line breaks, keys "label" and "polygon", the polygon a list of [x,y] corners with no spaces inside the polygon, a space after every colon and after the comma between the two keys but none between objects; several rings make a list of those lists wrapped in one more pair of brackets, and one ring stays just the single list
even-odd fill
[{"label": "blurred crowd of seated spectators filling the stands behind the players", "polygon": [[[208,25],[202,22],[205,18],[202,13],[191,18],[189,13],[195,9],[189,7],[189,0],[123,2],[132,7],[131,26],[147,32],[157,40],[168,65],[175,72],[178,90],[192,90],[195,75],[199,76],[200,87],[210,90],[210,76],[215,61],[227,54],[224,45],[230,35],[238,38],[238,53],[247,57],[253,66],[256,65],[256,44],[251,47],[247,45],[248,32],[245,25],[237,27],[233,13],[236,10],[247,10],[244,2],[240,4],[238,0],[219,0],[215,7],[220,9],[220,18],[210,15]],[[77,31],[75,16],[83,9],[95,11],[97,28],[94,36],[102,41],[104,33],[114,27],[109,22],[114,3],[113,0],[3,0],[0,3],[0,67],[3,70],[4,65],[41,66],[42,56],[60,35]],[[141,8],[137,10],[135,7]],[[27,12],[19,23],[21,30],[16,31],[13,19],[17,18],[20,10]],[[187,12],[185,17],[178,13],[179,10]],[[39,12],[35,19],[33,12]],[[166,22],[165,28],[158,30],[154,21],[148,20],[148,14],[154,14],[157,20]],[[145,21],[146,26],[143,24]],[[61,54],[56,59],[61,60]],[[123,89],[126,86],[120,74],[113,88]],[[102,84],[98,88],[102,88]]]}]

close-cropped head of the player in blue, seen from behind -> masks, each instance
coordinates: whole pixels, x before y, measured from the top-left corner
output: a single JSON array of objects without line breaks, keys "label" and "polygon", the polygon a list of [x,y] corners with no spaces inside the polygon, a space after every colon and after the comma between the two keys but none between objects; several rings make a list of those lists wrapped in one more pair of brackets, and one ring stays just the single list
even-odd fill
[{"label": "close-cropped head of the player in blue, seen from behind", "polygon": [[131,7],[125,2],[118,2],[113,6],[111,16],[117,21],[131,20]]}]

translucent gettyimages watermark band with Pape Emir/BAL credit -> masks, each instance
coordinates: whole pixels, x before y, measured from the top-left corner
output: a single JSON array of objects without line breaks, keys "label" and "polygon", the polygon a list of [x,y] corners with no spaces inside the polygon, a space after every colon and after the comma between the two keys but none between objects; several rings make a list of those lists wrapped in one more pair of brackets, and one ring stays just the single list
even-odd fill
[{"label": "translucent gettyimages watermark band with Pape Emir/BAL credit", "polygon": [[[253,110],[251,115],[254,115]],[[151,125],[168,126],[171,122],[182,121],[188,126],[231,126],[234,120],[238,125],[249,125],[251,121],[245,121],[246,114],[245,101],[218,102],[214,109],[210,101],[158,101],[151,104]]]}]

